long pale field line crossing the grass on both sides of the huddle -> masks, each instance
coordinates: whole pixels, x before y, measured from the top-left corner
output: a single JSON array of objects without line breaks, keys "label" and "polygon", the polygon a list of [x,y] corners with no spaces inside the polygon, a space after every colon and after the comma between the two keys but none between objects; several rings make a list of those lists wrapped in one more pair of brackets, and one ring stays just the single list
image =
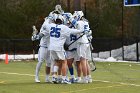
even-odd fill
[{"label": "long pale field line crossing the grass on both sides of the huddle", "polygon": [[[20,74],[20,73],[9,73],[9,72],[0,72],[0,73],[9,74],[9,75],[32,76],[32,77],[35,76],[35,75],[32,75],[32,74]],[[44,75],[40,75],[40,76],[44,76]],[[130,84],[130,83],[123,83],[123,82],[111,82],[111,81],[104,81],[104,80],[94,80],[94,81],[100,81],[100,82],[105,82],[105,83],[118,83],[118,84],[121,84],[121,85],[140,87],[140,85],[138,85],[138,84]]]}]

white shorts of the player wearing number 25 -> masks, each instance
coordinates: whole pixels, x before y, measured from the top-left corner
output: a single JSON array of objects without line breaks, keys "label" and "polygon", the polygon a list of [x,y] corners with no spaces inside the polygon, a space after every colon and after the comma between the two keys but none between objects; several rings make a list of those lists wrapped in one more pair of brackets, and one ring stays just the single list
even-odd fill
[{"label": "white shorts of the player wearing number 25", "polygon": [[51,60],[65,60],[66,59],[66,52],[65,51],[53,51],[50,50],[50,57]]}]

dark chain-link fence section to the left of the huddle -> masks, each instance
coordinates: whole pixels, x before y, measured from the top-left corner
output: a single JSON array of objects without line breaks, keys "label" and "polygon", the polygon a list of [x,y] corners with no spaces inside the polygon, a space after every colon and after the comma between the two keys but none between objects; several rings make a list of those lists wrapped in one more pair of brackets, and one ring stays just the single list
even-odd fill
[{"label": "dark chain-link fence section to the left of the huddle", "polygon": [[13,59],[16,59],[16,55],[35,55],[38,52],[38,44],[39,41],[32,42],[30,39],[0,39],[0,54],[8,53],[13,55]]}]

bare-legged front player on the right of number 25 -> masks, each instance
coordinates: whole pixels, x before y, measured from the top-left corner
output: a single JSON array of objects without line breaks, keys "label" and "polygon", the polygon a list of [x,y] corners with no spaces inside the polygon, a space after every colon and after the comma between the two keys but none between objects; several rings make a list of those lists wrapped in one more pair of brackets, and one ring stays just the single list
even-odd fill
[{"label": "bare-legged front player on the right of number 25", "polygon": [[[75,11],[74,15],[76,22],[76,29],[78,30],[86,30],[89,31],[89,25],[82,20],[84,14],[82,11]],[[78,34],[77,36],[80,37],[82,34]],[[77,82],[88,83],[87,79],[87,50],[89,47],[89,41],[87,39],[86,34],[83,34],[81,38],[77,40],[77,70],[78,70],[78,80]],[[81,80],[81,71],[83,73],[83,80]]]}]

